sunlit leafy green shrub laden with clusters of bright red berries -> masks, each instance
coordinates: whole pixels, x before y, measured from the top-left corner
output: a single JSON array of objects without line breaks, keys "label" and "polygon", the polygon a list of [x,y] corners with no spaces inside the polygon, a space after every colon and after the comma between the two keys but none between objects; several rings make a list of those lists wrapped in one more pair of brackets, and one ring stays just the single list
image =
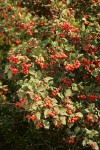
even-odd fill
[{"label": "sunlit leafy green shrub laden with clusters of bright red berries", "polygon": [[48,149],[99,150],[99,1],[1,0],[0,15],[5,103],[27,112]]}]

